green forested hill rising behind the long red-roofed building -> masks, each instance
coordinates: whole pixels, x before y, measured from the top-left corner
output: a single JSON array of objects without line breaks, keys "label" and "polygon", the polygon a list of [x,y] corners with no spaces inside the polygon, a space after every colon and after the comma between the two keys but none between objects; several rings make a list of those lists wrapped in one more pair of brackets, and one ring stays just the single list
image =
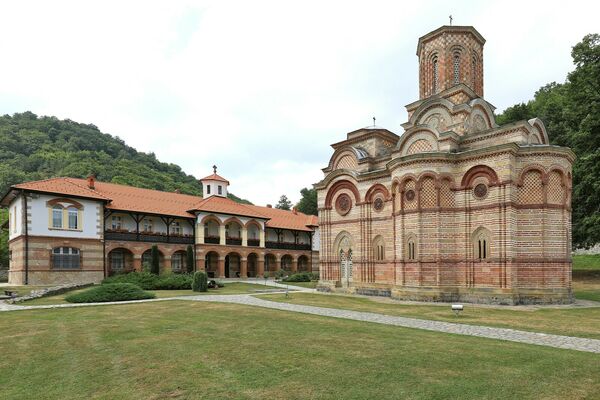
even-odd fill
[{"label": "green forested hill rising behind the long red-roofed building", "polygon": [[0,117],[0,196],[16,183],[90,173],[104,182],[202,195],[200,183],[178,165],[160,162],[94,125],[31,112]]}]

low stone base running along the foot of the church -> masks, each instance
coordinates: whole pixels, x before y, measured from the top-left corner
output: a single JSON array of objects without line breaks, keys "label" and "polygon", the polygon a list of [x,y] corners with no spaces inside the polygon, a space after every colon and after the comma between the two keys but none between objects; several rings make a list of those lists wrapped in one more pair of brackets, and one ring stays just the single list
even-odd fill
[{"label": "low stone base running along the foot of the church", "polygon": [[384,296],[397,300],[424,302],[464,302],[498,305],[573,303],[573,293],[571,289],[567,288],[500,289],[486,287],[410,287],[391,285],[350,285],[349,287],[342,287],[339,282],[320,281],[317,290],[321,292]]}]

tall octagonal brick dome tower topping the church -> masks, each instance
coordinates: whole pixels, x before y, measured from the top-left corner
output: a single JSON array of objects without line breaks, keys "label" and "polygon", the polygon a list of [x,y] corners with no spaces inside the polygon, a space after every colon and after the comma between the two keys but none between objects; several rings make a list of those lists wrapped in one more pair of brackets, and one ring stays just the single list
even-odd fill
[{"label": "tall octagonal brick dome tower topping the church", "polygon": [[483,97],[483,45],[472,26],[444,25],[419,38],[419,98],[458,84]]}]

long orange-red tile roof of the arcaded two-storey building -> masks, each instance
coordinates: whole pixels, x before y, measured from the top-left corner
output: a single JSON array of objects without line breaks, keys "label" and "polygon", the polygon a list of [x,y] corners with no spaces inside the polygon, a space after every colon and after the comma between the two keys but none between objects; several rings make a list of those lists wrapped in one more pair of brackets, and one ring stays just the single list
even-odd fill
[{"label": "long orange-red tile roof of the arcaded two-storey building", "polygon": [[200,196],[161,192],[99,181],[95,181],[94,189],[90,189],[85,179],[51,178],[14,185],[12,189],[102,200],[107,203],[106,208],[113,210],[183,218],[194,218],[194,211],[231,214],[265,219],[268,228],[301,231],[311,231],[310,227],[318,226],[318,218],[314,215],[240,204],[227,197],[211,196],[203,199]]}]

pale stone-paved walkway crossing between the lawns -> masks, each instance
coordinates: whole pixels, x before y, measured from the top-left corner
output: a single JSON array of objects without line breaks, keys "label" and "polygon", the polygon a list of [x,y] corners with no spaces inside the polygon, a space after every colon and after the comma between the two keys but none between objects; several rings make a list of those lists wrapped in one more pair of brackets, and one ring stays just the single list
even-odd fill
[{"label": "pale stone-paved walkway crossing between the lawns", "polygon": [[[269,282],[272,284],[271,282]],[[285,285],[282,285],[285,286]],[[302,292],[312,292],[312,289],[298,288]],[[555,347],[560,349],[578,350],[600,354],[600,340],[585,339],[572,336],[550,335],[538,332],[519,331],[506,328],[493,328],[480,325],[467,325],[452,322],[431,321],[417,318],[397,317],[385,314],[342,310],[336,308],[314,307],[300,304],[278,303],[254,297],[250,294],[239,295],[199,295],[180,296],[164,299],[123,301],[112,303],[93,304],[57,304],[47,306],[21,306],[0,302],[0,311],[31,310],[44,308],[70,308],[89,307],[97,305],[133,304],[153,301],[185,300],[207,301],[230,304],[241,304],[254,307],[270,308],[274,310],[297,312],[303,314],[319,315],[323,317],[349,319],[354,321],[372,322],[384,325],[401,326],[405,328],[424,329],[433,332],[452,333],[457,335],[477,336],[488,339],[507,340],[511,342],[527,343],[540,346]]]}]

